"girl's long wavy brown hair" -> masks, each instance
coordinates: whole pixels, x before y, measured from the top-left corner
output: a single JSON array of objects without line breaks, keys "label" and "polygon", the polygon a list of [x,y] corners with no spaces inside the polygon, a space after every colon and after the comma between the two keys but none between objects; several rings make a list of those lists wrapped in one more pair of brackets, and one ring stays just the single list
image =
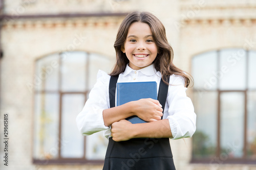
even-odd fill
[{"label": "girl's long wavy brown hair", "polygon": [[156,70],[161,72],[164,83],[169,84],[169,82],[166,81],[167,76],[175,74],[183,77],[185,87],[188,87],[190,80],[193,81],[193,78],[173,64],[174,52],[167,41],[165,28],[162,22],[149,12],[132,12],[122,21],[114,44],[116,50],[116,63],[110,76],[119,75],[125,70],[126,65],[129,63],[129,60],[121,49],[124,46],[128,30],[134,22],[147,23],[151,28],[153,39],[158,46],[158,54],[153,63]]}]

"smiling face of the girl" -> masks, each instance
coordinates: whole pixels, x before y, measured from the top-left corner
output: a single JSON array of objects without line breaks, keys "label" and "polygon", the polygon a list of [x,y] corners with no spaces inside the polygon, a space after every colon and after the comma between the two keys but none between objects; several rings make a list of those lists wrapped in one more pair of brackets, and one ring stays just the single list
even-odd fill
[{"label": "smiling face of the girl", "polygon": [[153,40],[150,26],[134,22],[130,26],[122,52],[129,59],[129,66],[138,70],[151,65],[157,57],[158,47]]}]

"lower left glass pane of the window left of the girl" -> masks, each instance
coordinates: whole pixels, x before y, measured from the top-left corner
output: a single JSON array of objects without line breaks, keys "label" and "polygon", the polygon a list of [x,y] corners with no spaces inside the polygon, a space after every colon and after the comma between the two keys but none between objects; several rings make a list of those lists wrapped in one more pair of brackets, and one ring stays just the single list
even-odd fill
[{"label": "lower left glass pane of the window left of the girl", "polygon": [[34,158],[58,157],[59,94],[35,95]]}]

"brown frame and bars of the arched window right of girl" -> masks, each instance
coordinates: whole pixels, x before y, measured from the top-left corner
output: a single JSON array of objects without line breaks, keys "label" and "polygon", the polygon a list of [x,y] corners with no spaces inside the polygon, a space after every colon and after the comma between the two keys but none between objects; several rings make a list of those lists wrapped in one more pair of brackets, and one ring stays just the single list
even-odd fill
[{"label": "brown frame and bars of the arched window right of girl", "polygon": [[[216,51],[209,51],[209,52],[215,52],[216,53],[216,57],[217,57],[217,70],[220,70],[220,66],[221,66],[221,62],[220,62],[220,52],[221,51],[224,51],[224,50],[244,50],[242,48],[223,48],[221,50],[216,50]],[[197,56],[200,56],[202,54],[205,54],[205,53],[208,53],[208,52],[204,52],[204,53],[201,53],[201,54],[198,54],[198,55],[195,55],[191,61],[193,61],[193,59]],[[249,89],[248,88],[248,75],[249,75],[249,53],[250,51],[249,50],[245,50],[245,64],[246,64],[246,70],[245,70],[245,81],[246,81],[246,88],[244,90],[221,90],[220,89],[220,79],[217,79],[217,89],[205,89],[205,88],[195,88],[193,89],[193,92],[196,93],[196,92],[207,92],[207,91],[213,91],[213,92],[216,92],[217,93],[217,134],[214,134],[214,135],[217,135],[217,145],[216,145],[216,148],[217,148],[217,151],[216,151],[216,154],[214,155],[214,158],[207,158],[207,159],[199,159],[199,158],[194,158],[193,157],[193,154],[191,155],[191,160],[190,160],[190,163],[212,163],[212,164],[215,164],[215,163],[246,163],[246,164],[256,164],[256,161],[255,160],[252,160],[248,157],[247,155],[247,147],[248,147],[248,144],[247,144],[247,104],[248,104],[248,95],[247,93],[249,91],[256,91],[256,88],[255,89]],[[193,63],[193,62],[191,62]],[[191,65],[191,68],[193,68],[194,65],[192,64]],[[243,156],[241,158],[227,158],[227,159],[221,159],[222,156],[222,152],[221,152],[221,94],[222,93],[228,93],[228,92],[242,92],[244,94],[244,121],[243,121]],[[239,134],[237,134],[239,135]],[[193,137],[192,137],[193,138]],[[193,149],[192,149],[193,150]]]}]

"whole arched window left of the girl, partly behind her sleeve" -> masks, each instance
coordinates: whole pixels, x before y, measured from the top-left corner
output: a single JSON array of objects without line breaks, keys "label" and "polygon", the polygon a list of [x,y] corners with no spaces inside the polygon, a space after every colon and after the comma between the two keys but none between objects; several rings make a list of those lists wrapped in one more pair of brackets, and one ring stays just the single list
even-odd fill
[{"label": "whole arched window left of the girl, partly behind her sleeve", "polygon": [[34,163],[102,162],[108,140],[103,132],[82,136],[76,116],[82,110],[98,69],[111,61],[98,54],[65,52],[36,61],[34,84]]}]

